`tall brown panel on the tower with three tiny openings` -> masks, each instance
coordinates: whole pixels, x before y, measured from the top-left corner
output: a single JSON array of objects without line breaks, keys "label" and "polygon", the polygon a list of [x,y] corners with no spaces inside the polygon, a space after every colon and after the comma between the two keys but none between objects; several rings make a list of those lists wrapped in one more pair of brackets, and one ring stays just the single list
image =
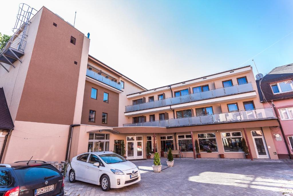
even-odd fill
[{"label": "tall brown panel on the tower with three tiny openings", "polygon": [[83,33],[44,7],[16,120],[73,123],[83,41]]}]

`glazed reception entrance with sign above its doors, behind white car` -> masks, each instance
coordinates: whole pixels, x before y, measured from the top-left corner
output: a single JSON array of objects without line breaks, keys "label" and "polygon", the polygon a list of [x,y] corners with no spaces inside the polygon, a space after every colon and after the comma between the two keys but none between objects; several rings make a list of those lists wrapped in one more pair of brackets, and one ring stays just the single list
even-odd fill
[{"label": "glazed reception entrance with sign above its doors, behind white car", "polygon": [[90,133],[88,152],[109,151],[110,134]]}]

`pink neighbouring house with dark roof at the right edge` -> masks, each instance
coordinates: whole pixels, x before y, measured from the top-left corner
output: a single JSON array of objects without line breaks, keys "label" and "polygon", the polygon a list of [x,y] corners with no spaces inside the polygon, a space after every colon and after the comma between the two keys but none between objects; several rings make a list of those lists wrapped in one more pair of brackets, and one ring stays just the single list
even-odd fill
[{"label": "pink neighbouring house with dark roof at the right edge", "polygon": [[[293,158],[293,63],[273,68],[257,80],[260,100],[264,107],[275,108],[280,127],[272,129],[279,158]],[[288,153],[289,151],[289,153]]]}]

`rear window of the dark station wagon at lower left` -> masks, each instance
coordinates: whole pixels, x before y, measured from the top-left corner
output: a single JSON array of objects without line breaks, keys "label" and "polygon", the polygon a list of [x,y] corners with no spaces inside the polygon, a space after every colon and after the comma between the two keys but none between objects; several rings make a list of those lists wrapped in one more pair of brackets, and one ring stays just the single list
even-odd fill
[{"label": "rear window of the dark station wagon at lower left", "polygon": [[51,176],[56,176],[60,175],[60,173],[55,170],[55,168],[50,165],[48,166],[37,166],[37,167],[25,167],[25,168],[20,168],[14,170],[19,183],[23,184],[28,183],[28,182],[35,182],[38,180],[45,180],[45,177],[51,177]]}]

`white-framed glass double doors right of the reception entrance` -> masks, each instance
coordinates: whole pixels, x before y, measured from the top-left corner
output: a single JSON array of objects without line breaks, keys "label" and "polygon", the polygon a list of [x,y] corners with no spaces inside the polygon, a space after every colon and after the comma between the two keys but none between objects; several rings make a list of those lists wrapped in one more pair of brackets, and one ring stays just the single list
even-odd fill
[{"label": "white-framed glass double doors right of the reception entrance", "polygon": [[143,159],[142,136],[127,136],[126,141],[127,159]]}]

